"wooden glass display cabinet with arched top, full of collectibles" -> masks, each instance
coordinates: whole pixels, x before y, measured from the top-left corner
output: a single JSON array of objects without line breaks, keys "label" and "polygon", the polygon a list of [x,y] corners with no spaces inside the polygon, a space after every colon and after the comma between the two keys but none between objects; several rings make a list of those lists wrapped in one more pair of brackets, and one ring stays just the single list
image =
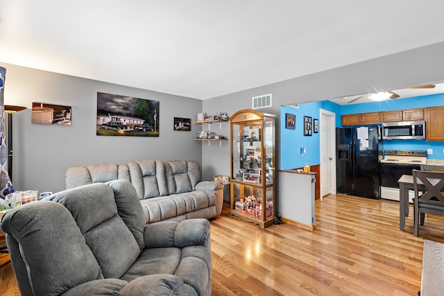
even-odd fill
[{"label": "wooden glass display cabinet with arched top, full of collectibles", "polygon": [[255,110],[230,117],[230,215],[262,228],[275,220],[275,117]]}]

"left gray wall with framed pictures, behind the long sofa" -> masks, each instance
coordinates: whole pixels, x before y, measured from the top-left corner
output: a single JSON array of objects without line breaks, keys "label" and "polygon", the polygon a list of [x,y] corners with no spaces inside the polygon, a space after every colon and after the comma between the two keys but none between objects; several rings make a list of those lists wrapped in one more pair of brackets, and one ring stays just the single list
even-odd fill
[{"label": "left gray wall with framed pictures, behind the long sofa", "polygon": [[[191,132],[173,130],[173,117],[190,118],[202,110],[202,101],[18,67],[6,68],[4,100],[27,110],[13,114],[13,171],[15,190],[65,189],[69,166],[126,163],[142,159],[192,159],[201,163],[200,143]],[[97,92],[160,101],[160,137],[96,136]],[[72,106],[72,125],[31,123],[32,102]],[[200,129],[200,128],[199,128]]]}]

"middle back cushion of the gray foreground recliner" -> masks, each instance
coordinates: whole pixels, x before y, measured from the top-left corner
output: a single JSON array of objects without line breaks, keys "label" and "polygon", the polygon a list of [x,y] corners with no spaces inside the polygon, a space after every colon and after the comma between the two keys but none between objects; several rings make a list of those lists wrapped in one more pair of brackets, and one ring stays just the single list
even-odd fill
[{"label": "middle back cushion of the gray foreground recliner", "polygon": [[[114,185],[133,186],[124,180],[114,182]],[[71,211],[101,266],[103,277],[121,277],[139,256],[139,241],[119,216],[114,191],[110,186],[103,183],[89,184],[55,193],[46,199],[59,202]],[[138,202],[135,191],[126,196],[130,204],[131,199]],[[143,221],[141,213],[139,218]]]}]

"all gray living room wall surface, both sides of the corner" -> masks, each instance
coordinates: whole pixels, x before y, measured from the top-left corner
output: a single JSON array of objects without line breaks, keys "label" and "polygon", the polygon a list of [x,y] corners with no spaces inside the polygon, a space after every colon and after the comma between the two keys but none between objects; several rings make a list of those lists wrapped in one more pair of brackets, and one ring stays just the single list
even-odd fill
[{"label": "all gray living room wall surface, both sides of the corner", "polygon": [[[280,105],[442,82],[443,53],[444,42],[441,42],[205,101],[0,62],[6,68],[6,104],[31,108],[32,102],[43,102],[73,107],[70,127],[32,124],[31,109],[14,114],[13,184],[16,190],[60,191],[65,188],[65,171],[69,166],[140,159],[194,159],[202,166],[203,180],[211,180],[215,174],[230,175],[230,142],[224,141],[219,147],[219,141],[214,141],[209,147],[207,141],[192,141],[200,125],[192,125],[191,132],[174,132],[173,117],[191,118],[194,122],[201,111],[228,112],[231,116],[250,109],[253,96],[270,93],[273,107],[259,111],[278,116],[276,163],[279,164]],[[160,137],[96,136],[96,92],[160,101]],[[206,130],[207,126],[202,128]],[[219,125],[210,128],[230,137],[228,123],[223,123],[221,130]]]}]

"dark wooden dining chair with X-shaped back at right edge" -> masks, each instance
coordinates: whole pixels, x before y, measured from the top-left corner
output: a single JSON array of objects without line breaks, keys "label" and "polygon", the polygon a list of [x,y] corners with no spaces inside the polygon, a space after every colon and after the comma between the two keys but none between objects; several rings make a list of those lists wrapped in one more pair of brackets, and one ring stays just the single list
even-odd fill
[{"label": "dark wooden dining chair with X-shaped back at right edge", "polygon": [[[414,235],[424,225],[425,213],[444,216],[444,173],[413,170]],[[422,183],[422,184],[421,184]]]}]

